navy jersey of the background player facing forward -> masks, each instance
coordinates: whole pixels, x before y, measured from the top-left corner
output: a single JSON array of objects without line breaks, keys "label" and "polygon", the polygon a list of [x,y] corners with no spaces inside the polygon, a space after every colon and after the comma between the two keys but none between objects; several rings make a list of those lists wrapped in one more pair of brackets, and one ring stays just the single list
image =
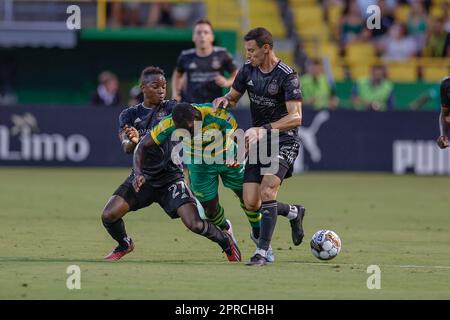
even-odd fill
[{"label": "navy jersey of the background player facing forward", "polygon": [[224,75],[225,71],[231,73],[237,69],[231,54],[220,47],[214,47],[207,57],[199,57],[195,49],[184,50],[178,57],[176,68],[187,75],[181,98],[190,103],[211,102],[222,96],[222,88],[215,83],[214,78]]}]

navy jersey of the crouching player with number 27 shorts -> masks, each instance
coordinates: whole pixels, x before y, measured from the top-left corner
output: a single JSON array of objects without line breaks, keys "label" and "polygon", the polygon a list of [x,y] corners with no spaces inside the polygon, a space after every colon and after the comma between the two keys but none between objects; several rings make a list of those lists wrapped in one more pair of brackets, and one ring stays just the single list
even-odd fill
[{"label": "navy jersey of the crouching player with number 27 shorts", "polygon": [[[143,137],[161,119],[172,113],[176,104],[176,100],[165,100],[154,108],[144,107],[142,103],[129,107],[119,116],[120,131],[128,125],[135,127],[139,131],[139,136]],[[173,145],[174,142],[167,139],[161,145],[149,148],[145,154],[142,171],[146,181],[154,187],[164,186],[183,177],[181,168],[171,159]]]}]

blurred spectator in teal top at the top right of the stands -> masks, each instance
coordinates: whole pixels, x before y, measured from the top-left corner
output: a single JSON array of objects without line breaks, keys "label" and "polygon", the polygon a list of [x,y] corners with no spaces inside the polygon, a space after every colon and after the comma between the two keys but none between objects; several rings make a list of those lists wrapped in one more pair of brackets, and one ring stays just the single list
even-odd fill
[{"label": "blurred spectator in teal top at the top right of the stands", "polygon": [[421,51],[425,46],[425,35],[427,31],[427,15],[421,0],[412,2],[406,29],[414,41],[416,41],[418,51]]}]

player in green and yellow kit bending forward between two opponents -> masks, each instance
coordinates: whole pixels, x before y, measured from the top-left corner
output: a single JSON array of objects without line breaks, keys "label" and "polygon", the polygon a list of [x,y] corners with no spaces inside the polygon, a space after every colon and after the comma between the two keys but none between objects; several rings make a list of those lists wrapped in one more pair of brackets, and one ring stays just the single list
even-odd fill
[{"label": "player in green and yellow kit bending forward between two opponents", "polygon": [[[201,126],[196,127],[196,123],[201,123]],[[176,129],[187,130],[184,132],[189,133],[189,139],[183,138],[183,158],[189,171],[191,189],[205,208],[206,217],[220,229],[231,227],[230,221],[225,218],[224,208],[219,203],[220,176],[224,186],[239,198],[252,228],[251,238],[256,243],[260,234],[261,213],[247,210],[244,206],[244,165],[234,161],[237,145],[232,136],[237,127],[237,121],[229,111],[214,111],[211,103],[179,103],[172,114],[153,127],[141,143],[147,147],[160,145],[171,139]],[[229,154],[234,158],[227,160]],[[274,261],[271,249],[268,261]]]}]

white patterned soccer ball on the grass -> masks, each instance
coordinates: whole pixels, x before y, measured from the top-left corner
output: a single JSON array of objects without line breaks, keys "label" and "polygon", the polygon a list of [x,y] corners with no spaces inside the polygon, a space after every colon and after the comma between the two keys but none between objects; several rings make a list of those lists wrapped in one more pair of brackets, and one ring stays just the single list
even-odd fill
[{"label": "white patterned soccer ball on the grass", "polygon": [[312,254],[320,260],[331,260],[341,251],[341,239],[331,230],[317,231],[310,245]]}]

